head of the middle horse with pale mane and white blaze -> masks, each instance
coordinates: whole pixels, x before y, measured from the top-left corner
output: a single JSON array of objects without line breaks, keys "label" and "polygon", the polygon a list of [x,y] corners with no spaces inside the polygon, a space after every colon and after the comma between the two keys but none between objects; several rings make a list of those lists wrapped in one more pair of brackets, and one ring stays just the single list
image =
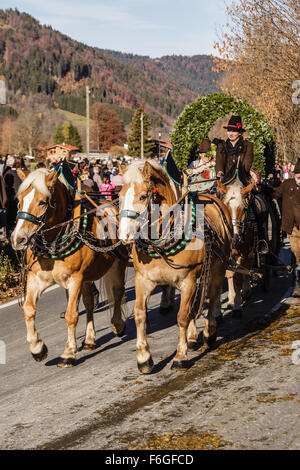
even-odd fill
[{"label": "head of the middle horse with pale mane and white blaze", "polygon": [[174,193],[165,170],[157,163],[134,162],[125,170],[123,178],[119,239],[126,244],[134,241],[142,223],[148,220],[150,203],[172,204]]}]

